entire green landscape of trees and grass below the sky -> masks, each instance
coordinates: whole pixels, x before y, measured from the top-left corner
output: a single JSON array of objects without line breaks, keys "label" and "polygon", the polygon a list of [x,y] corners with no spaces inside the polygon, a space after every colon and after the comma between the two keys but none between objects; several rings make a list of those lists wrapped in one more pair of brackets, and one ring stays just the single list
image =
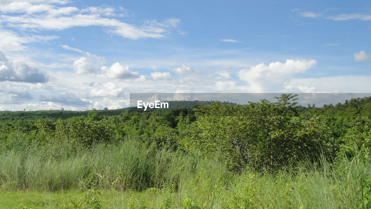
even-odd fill
[{"label": "entire green landscape of trees and grass below the sky", "polygon": [[0,111],[0,208],[371,208],[371,97]]}]

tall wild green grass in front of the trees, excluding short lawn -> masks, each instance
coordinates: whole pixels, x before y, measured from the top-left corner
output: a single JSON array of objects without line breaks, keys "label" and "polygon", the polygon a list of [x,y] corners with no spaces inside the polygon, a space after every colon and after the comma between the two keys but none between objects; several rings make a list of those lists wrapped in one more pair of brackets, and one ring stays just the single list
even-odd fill
[{"label": "tall wild green grass in front of the trees, excluding short lawn", "polygon": [[135,138],[75,151],[14,140],[0,151],[0,186],[119,191],[106,202],[113,208],[370,208],[369,164],[358,154],[274,173],[232,173],[221,156],[145,148]]}]

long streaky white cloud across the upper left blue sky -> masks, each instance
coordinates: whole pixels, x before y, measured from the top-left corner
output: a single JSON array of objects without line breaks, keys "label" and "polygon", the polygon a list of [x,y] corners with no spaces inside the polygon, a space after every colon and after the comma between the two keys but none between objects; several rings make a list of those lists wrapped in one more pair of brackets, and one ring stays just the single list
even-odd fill
[{"label": "long streaky white cloud across the upper left blue sky", "polygon": [[[36,2],[34,2],[36,3]],[[1,4],[2,13],[25,13],[23,15],[1,15],[0,21],[17,29],[64,30],[71,27],[101,26],[108,33],[129,39],[162,38],[170,33],[170,28],[177,27],[180,20],[170,18],[162,23],[146,21],[145,25],[135,26],[113,18],[102,16],[124,16],[127,12],[119,7],[88,7],[79,10],[76,7],[56,7],[50,4],[31,2],[10,2]],[[81,12],[81,13],[77,13]],[[77,14],[76,14],[77,13]],[[87,13],[87,14],[86,14]]]}]

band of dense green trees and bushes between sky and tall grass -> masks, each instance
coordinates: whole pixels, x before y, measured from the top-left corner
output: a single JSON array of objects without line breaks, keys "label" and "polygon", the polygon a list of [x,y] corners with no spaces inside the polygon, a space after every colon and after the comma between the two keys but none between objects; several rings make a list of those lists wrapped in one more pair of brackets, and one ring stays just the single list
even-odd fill
[{"label": "band of dense green trees and bushes between sky and tall grass", "polygon": [[[171,104],[179,108],[145,112],[0,112],[0,144],[7,147],[10,138],[22,136],[38,146],[66,143],[77,148],[135,136],[147,147],[196,148],[206,156],[222,153],[232,170],[253,167],[266,171],[300,160],[316,161],[321,153],[326,153],[328,160],[335,160],[340,150],[352,155],[346,147],[370,148],[370,97],[321,108],[297,106],[297,95],[283,94],[276,99],[246,105],[180,101]],[[58,115],[63,117],[56,118]]]}]

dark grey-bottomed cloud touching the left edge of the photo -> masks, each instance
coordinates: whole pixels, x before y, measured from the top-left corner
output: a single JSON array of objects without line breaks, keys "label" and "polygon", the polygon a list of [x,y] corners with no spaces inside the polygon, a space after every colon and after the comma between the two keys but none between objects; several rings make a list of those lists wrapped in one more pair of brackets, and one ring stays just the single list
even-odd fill
[{"label": "dark grey-bottomed cloud touching the left edge of the photo", "polygon": [[39,72],[39,69],[32,68],[26,63],[9,62],[4,53],[0,52],[0,81],[43,83],[48,78],[46,74]]}]

